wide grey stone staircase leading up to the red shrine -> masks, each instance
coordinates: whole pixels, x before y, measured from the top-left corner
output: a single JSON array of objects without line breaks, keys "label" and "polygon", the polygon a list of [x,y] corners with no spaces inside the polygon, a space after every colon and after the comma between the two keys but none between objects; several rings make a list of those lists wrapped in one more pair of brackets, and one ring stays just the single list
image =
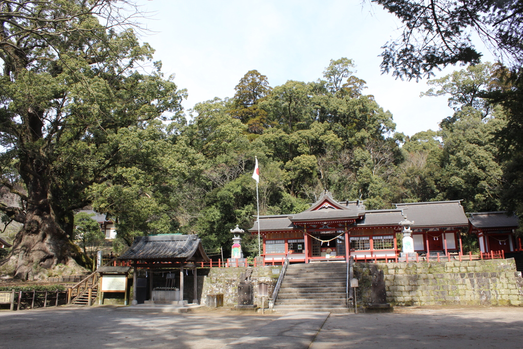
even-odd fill
[{"label": "wide grey stone staircase leading up to the red shrine", "polygon": [[274,310],[346,313],[347,263],[291,264],[281,284]]}]

